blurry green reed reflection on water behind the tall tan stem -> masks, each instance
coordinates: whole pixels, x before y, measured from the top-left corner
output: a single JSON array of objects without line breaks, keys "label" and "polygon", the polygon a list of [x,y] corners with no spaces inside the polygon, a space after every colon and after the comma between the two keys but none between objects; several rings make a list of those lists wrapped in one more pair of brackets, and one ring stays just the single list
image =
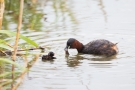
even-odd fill
[{"label": "blurry green reed reflection on water behind the tall tan stem", "polygon": [[[5,4],[6,8],[4,13],[3,29],[15,31],[19,17],[19,8],[16,7],[19,7],[20,2],[17,0],[5,0]],[[35,4],[30,0],[25,1],[22,22],[23,30],[40,30],[42,27],[41,19],[43,18],[44,14],[41,10],[37,10],[35,7]]]}]

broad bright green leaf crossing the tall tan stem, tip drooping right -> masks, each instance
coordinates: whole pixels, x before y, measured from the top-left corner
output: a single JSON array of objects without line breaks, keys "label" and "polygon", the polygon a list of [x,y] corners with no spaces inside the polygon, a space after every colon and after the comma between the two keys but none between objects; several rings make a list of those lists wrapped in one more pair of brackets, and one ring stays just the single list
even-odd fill
[{"label": "broad bright green leaf crossing the tall tan stem, tip drooping right", "polygon": [[[11,32],[11,31],[7,31],[7,30],[0,30],[0,33],[2,34],[7,34],[8,36],[16,36],[16,32]],[[30,38],[23,36],[20,34],[20,38],[23,39],[24,41],[26,41],[27,43],[38,47],[38,44],[36,42],[34,42],[33,40],[31,40]]]}]

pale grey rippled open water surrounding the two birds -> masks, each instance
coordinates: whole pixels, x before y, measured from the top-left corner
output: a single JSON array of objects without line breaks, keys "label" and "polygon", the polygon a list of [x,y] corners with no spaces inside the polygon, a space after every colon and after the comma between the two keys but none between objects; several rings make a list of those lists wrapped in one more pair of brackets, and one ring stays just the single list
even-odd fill
[{"label": "pale grey rippled open water surrounding the two birds", "polygon": [[[40,57],[18,90],[135,90],[134,0],[69,0],[76,21],[44,3],[39,2],[47,22],[42,21],[41,31],[25,35],[46,46],[46,53],[55,52],[57,59],[43,62]],[[102,58],[69,50],[65,57],[71,37],[84,44],[95,39],[118,42],[119,53]]]}]

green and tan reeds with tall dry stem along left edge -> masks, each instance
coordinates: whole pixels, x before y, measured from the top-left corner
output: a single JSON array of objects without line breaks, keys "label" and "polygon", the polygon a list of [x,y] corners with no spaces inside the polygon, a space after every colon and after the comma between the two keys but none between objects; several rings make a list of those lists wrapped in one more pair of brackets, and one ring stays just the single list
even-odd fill
[{"label": "green and tan reeds with tall dry stem along left edge", "polygon": [[[35,43],[33,40],[30,40],[28,37],[25,37],[23,35],[20,34],[20,29],[21,29],[21,24],[22,24],[22,14],[23,14],[23,0],[20,1],[20,13],[19,13],[19,21],[18,21],[18,27],[17,27],[17,31],[16,32],[12,32],[10,30],[0,30],[0,34],[6,34],[6,38],[7,36],[9,37],[15,37],[15,42],[14,42],[14,46],[11,46],[9,43],[7,43],[6,40],[0,39],[0,52],[2,53],[1,55],[6,55],[8,56],[4,50],[9,50],[11,51],[11,55],[12,57],[8,56],[8,59],[5,58],[0,58],[0,89],[2,89],[3,86],[10,84],[11,83],[11,87],[12,90],[15,90],[18,85],[20,84],[19,81],[16,83],[16,85],[14,85],[14,82],[16,79],[18,78],[23,78],[24,74],[28,71],[27,67],[28,67],[28,61],[24,62],[25,65],[21,66],[19,65],[16,60],[17,60],[17,50],[18,50],[18,42],[19,42],[19,38],[23,39],[24,41],[26,41],[27,44],[33,45],[34,47],[38,47],[38,44]],[[2,25],[2,24],[1,24]],[[3,36],[3,35],[2,35]],[[10,41],[10,40],[9,40]],[[10,67],[10,71],[5,71],[5,64],[4,63],[8,63],[8,67]],[[17,67],[21,67],[21,69],[16,68]],[[27,68],[27,69],[26,69]],[[17,69],[17,70],[16,70]],[[12,78],[12,79],[8,79],[8,78]]]}]

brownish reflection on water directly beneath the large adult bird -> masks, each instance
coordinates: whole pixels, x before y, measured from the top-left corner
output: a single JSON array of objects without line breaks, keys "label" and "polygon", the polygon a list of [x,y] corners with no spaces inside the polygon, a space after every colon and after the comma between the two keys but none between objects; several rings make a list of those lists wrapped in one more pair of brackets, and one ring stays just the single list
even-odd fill
[{"label": "brownish reflection on water directly beneath the large adult bird", "polygon": [[81,66],[83,61],[88,60],[89,64],[92,66],[103,66],[103,65],[110,65],[111,60],[116,60],[116,55],[111,56],[111,57],[106,57],[106,56],[94,56],[93,55],[81,55],[77,54],[74,56],[66,56],[65,59],[67,61],[67,65],[69,67],[76,67],[76,66]]}]

